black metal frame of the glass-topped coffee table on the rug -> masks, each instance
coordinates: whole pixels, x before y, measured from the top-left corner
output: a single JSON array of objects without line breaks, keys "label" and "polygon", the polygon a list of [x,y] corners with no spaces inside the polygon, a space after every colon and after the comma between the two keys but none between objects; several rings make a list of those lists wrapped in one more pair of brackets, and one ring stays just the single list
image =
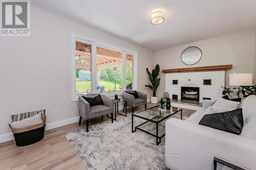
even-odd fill
[{"label": "black metal frame of the glass-topped coffee table on the rug", "polygon": [[[159,107],[159,106],[154,106],[154,107],[151,107],[151,108],[148,108],[148,109],[152,109],[152,108],[155,108],[155,107]],[[175,108],[175,107],[172,107],[172,108]],[[172,108],[171,108],[171,109],[172,109]],[[148,109],[145,109],[145,110],[148,110]],[[177,109],[178,109],[178,108],[177,108]],[[142,110],[142,111],[145,111],[145,110]],[[139,112],[137,112],[137,113],[140,113],[140,112],[142,112],[142,111],[139,111]],[[157,116],[155,116],[155,117],[153,117],[153,118],[151,118],[151,119],[145,118],[145,117],[142,117],[142,116],[139,116],[139,115],[136,115],[137,113],[132,113],[132,133],[135,132],[135,131],[138,129],[138,130],[140,130],[140,131],[142,131],[142,132],[145,132],[145,133],[147,133],[147,134],[149,134],[149,135],[152,135],[152,136],[156,137],[156,144],[158,145],[158,144],[161,143],[161,139],[165,136],[165,133],[164,133],[162,136],[158,136],[158,124],[160,124],[161,122],[163,122],[163,120],[169,118],[170,116],[172,116],[172,115],[178,113],[179,111],[180,111],[180,119],[182,120],[182,109],[179,109],[179,110],[175,111],[174,113],[169,114],[169,115],[166,116],[166,117],[163,117],[163,119],[161,119],[160,121],[155,121],[155,120],[153,120],[153,119],[156,118],[156,117],[161,116],[161,110],[159,110],[159,115],[157,115]],[[134,129],[134,128],[133,128],[133,127],[134,127],[134,125],[133,125],[133,116],[142,118],[142,119],[146,120],[146,122],[143,122],[142,124],[139,124],[138,126],[135,127],[135,130],[133,130],[133,129]],[[161,117],[162,117],[162,116],[161,116]],[[143,129],[141,129],[141,128],[139,128],[141,125],[144,125],[144,124],[146,124],[146,123],[148,123],[148,122],[152,122],[152,123],[155,123],[155,124],[156,124],[156,135],[153,134],[153,133],[147,132],[147,131],[145,131],[145,130],[143,130]]]}]

